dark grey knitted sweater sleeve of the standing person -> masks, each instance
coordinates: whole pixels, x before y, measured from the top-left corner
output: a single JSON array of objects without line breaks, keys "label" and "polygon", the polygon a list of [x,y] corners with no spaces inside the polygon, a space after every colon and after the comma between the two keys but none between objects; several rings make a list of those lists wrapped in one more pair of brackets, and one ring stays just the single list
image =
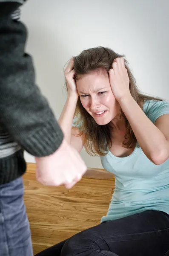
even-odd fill
[{"label": "dark grey knitted sweater sleeve of the standing person", "polygon": [[24,49],[26,27],[13,20],[18,3],[0,3],[0,125],[30,154],[52,154],[63,140],[46,98],[35,85],[32,58]]}]

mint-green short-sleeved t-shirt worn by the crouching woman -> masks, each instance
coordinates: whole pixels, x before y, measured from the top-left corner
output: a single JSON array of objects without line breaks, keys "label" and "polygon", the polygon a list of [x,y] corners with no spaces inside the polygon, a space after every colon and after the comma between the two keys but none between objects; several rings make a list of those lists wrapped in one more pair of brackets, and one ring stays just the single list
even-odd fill
[{"label": "mint-green short-sleeved t-shirt worn by the crouching woman", "polygon": [[[159,116],[169,113],[169,102],[146,100],[143,111],[155,123]],[[128,157],[116,157],[109,151],[100,159],[103,168],[115,175],[115,189],[101,222],[149,209],[169,214],[169,159],[155,165],[138,147]]]}]

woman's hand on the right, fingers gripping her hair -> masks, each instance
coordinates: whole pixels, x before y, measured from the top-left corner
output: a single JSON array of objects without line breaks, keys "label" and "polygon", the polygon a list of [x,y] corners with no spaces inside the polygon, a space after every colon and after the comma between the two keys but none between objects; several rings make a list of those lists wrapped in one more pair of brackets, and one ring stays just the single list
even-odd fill
[{"label": "woman's hand on the right, fingers gripping her hair", "polygon": [[116,58],[113,61],[112,68],[109,70],[109,81],[117,101],[129,95],[131,96],[129,90],[129,76],[124,65],[123,57]]}]

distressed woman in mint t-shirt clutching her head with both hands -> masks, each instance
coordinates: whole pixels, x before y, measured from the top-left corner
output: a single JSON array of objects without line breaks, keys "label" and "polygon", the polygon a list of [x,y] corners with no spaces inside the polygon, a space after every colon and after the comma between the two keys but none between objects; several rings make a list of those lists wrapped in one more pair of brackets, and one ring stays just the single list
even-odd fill
[{"label": "distressed woman in mint t-shirt clutching her head with both hands", "polygon": [[140,93],[126,60],[108,48],[84,50],[65,76],[65,138],[100,155],[115,190],[101,224],[37,255],[169,255],[169,102]]}]

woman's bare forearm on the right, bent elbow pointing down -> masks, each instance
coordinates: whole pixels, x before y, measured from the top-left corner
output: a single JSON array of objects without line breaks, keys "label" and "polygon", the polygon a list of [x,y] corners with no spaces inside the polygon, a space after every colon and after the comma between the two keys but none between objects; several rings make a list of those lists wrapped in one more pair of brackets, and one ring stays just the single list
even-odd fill
[{"label": "woman's bare forearm on the right, bent elbow pointing down", "polygon": [[132,96],[121,99],[119,103],[141,149],[149,160],[154,162],[168,147],[165,136],[146,116]]}]

